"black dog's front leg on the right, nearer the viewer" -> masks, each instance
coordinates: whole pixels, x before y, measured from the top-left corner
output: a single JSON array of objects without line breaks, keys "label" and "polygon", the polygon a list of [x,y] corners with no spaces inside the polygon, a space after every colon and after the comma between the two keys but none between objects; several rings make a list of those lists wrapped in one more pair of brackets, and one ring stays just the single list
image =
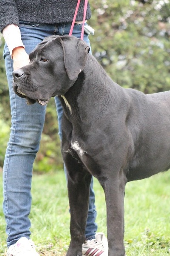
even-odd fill
[{"label": "black dog's front leg on the right, nearer the viewer", "polygon": [[108,256],[125,256],[124,237],[124,192],[126,177],[124,174],[112,175],[105,180],[107,209]]}]

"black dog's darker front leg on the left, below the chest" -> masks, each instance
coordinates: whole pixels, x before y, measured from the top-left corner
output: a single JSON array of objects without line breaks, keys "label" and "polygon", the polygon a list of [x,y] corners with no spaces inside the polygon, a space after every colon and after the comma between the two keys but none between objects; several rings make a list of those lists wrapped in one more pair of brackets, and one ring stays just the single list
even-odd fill
[{"label": "black dog's darker front leg on the left, below the chest", "polygon": [[81,256],[82,243],[85,242],[91,175],[88,172],[81,171],[78,172],[76,176],[76,181],[68,177],[68,198],[71,212],[71,242],[66,256]]}]

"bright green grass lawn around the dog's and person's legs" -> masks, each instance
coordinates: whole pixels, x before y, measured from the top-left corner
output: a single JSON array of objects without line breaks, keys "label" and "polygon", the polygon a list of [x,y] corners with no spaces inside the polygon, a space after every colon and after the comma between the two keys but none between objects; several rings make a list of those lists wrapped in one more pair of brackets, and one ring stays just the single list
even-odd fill
[{"label": "bright green grass lawn around the dog's and person's legs", "polygon": [[[2,184],[2,173],[0,173]],[[94,180],[98,231],[106,234],[105,197]],[[34,175],[31,239],[44,256],[64,256],[69,244],[69,207],[64,173]],[[2,205],[2,186],[0,205]],[[128,183],[125,195],[127,256],[170,253],[170,172]],[[0,208],[0,256],[6,251],[5,221]]]}]

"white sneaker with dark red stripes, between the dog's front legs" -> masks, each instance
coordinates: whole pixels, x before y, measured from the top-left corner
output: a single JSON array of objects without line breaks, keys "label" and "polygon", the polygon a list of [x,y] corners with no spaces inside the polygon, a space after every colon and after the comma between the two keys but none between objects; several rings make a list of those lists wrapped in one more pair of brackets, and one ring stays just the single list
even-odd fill
[{"label": "white sneaker with dark red stripes, between the dog's front legs", "polygon": [[95,239],[82,244],[82,256],[108,256],[108,240],[104,233],[96,233]]}]

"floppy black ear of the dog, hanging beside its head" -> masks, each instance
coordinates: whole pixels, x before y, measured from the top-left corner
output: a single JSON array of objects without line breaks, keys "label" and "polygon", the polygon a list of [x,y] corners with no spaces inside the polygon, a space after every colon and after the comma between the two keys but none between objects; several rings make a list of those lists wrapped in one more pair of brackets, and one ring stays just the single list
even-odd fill
[{"label": "floppy black ear of the dog, hanging beside its head", "polygon": [[85,67],[90,47],[81,39],[73,37],[60,39],[64,52],[66,72],[69,79],[74,80]]}]

